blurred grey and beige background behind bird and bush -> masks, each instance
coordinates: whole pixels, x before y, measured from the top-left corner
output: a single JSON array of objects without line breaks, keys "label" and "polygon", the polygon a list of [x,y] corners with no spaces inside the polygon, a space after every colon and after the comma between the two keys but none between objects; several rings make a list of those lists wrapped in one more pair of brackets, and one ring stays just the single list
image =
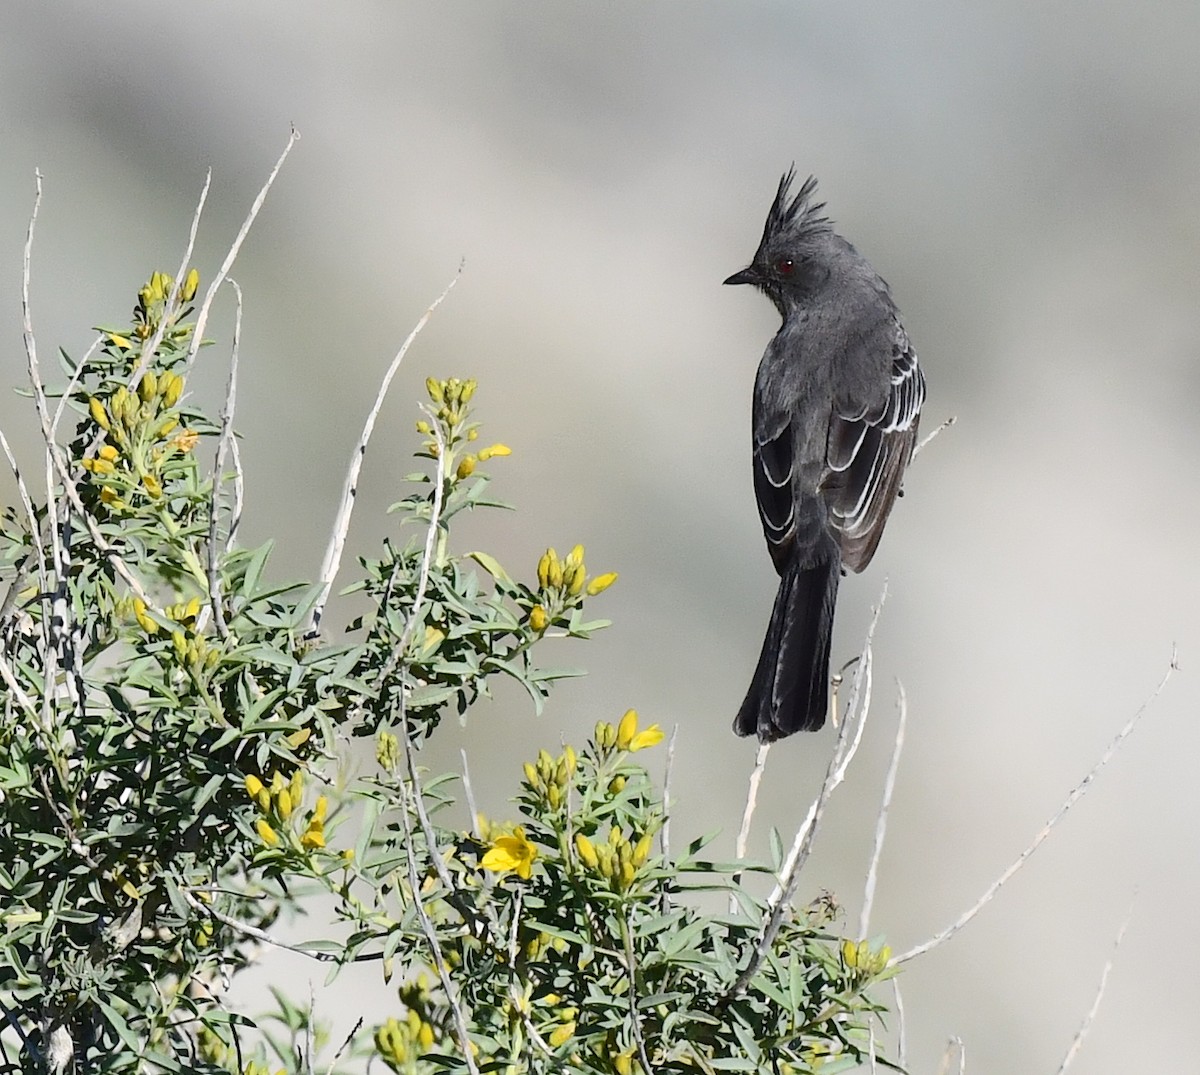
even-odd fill
[{"label": "blurred grey and beige background behind bird and bush", "polygon": [[[460,548],[530,576],[546,545],[581,541],[593,571],[620,572],[594,606],[614,626],[554,655],[587,679],[542,717],[514,691],[450,722],[446,763],[467,747],[499,817],[538,746],[634,705],[679,725],[677,839],[720,828],[732,851],[754,744],[730,722],[775,581],[750,386],[778,318],[720,281],[754,252],[779,174],[815,173],[893,286],[925,428],[959,422],[841,589],[835,662],[889,579],[874,723],[800,899],[833,890],[854,929],[898,677],[908,735],[872,929],[902,950],[1028,843],[1177,644],[1182,671],[1093,792],[904,987],[911,1070],[936,1070],[952,1035],[968,1070],[1054,1070],[1136,894],[1081,1070],[1194,1064],[1200,7],[10,0],[0,29],[7,385],[24,379],[35,168],[48,361],[175,270],[209,167],[196,263],[211,280],[299,128],[233,271],[245,538],[278,539],[280,577],[317,570],[379,377],[464,259],[376,433],[352,552],[390,533],[426,376],[476,377],[485,438],[514,449],[496,490],[520,512],[472,520]],[[222,304],[193,382],[214,401]],[[4,394],[0,425],[36,473],[26,402]],[[803,815],[832,743],[773,750],[756,853]],[[324,979],[272,955],[247,1003],[281,973],[301,993]],[[398,1007],[371,974],[322,1003],[338,1039]]]}]

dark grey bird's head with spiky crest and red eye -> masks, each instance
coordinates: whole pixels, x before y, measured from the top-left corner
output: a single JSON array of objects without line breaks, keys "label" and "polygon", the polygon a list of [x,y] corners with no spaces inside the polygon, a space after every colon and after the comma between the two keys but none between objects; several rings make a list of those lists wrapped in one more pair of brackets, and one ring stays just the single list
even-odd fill
[{"label": "dark grey bird's head with spiky crest and red eye", "polygon": [[793,164],[779,181],[754,260],[725,283],[749,283],[775,304],[782,317],[790,305],[803,305],[829,278],[839,240],[824,203],[814,202],[817,181],[809,176],[791,194]]}]

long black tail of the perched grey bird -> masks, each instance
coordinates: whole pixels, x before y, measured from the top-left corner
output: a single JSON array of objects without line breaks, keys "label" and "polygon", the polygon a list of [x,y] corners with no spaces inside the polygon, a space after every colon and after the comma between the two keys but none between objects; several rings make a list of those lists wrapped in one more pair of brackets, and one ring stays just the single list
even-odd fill
[{"label": "long black tail of the perched grey bird", "polygon": [[779,579],[775,607],[746,699],[733,721],[763,743],[815,732],[829,708],[829,636],[841,573],[838,557],[815,567],[793,561]]}]

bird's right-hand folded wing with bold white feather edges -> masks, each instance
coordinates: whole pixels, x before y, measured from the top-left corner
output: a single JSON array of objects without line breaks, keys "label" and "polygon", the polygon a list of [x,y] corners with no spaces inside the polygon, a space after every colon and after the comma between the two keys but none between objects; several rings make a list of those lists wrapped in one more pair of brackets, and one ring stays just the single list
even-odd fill
[{"label": "bird's right-hand folded wing with bold white feather edges", "polygon": [[822,492],[842,563],[852,571],[862,571],[875,555],[912,458],[925,401],[925,378],[898,320],[890,325],[890,346],[887,395],[866,404],[835,400],[829,420],[829,474]]}]

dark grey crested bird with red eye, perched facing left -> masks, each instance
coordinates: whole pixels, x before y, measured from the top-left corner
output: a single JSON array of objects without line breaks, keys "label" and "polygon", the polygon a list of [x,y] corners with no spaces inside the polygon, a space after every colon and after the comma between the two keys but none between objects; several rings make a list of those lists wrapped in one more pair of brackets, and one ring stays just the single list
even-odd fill
[{"label": "dark grey crested bird with red eye, perched facing left", "polygon": [[917,442],[925,379],[887,283],[833,230],[816,180],[780,180],[749,283],[784,319],[754,386],[754,488],[779,591],[733,729],[814,732],[845,567],[875,554]]}]

